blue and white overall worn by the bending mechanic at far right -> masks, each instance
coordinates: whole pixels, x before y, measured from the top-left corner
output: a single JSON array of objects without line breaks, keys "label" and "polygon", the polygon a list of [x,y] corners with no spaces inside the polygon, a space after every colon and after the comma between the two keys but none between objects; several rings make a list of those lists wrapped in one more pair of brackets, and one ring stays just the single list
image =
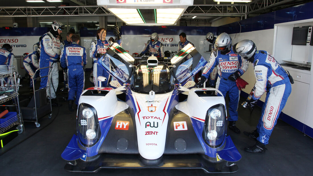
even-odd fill
[{"label": "blue and white overall worn by the bending mechanic at far right", "polygon": [[253,101],[260,99],[266,88],[269,90],[257,125],[257,140],[266,145],[291,93],[291,83],[285,70],[266,51],[256,51],[253,65],[256,78]]}]

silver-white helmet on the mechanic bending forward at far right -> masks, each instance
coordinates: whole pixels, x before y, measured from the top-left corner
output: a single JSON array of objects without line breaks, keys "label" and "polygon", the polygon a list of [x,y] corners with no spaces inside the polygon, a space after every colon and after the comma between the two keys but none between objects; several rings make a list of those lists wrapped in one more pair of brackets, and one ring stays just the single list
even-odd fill
[{"label": "silver-white helmet on the mechanic bending forward at far right", "polygon": [[248,60],[254,55],[256,46],[252,40],[242,40],[234,44],[233,51]]}]

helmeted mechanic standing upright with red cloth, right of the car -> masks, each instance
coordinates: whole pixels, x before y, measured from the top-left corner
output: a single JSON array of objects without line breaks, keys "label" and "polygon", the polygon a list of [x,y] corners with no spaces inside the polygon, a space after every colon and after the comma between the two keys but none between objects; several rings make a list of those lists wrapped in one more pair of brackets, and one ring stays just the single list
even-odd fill
[{"label": "helmeted mechanic standing upright with red cloth, right of the car", "polygon": [[212,52],[209,62],[205,65],[197,87],[202,87],[209,74],[217,66],[218,79],[216,88],[221,91],[224,97],[227,92],[229,96],[228,128],[235,133],[240,133],[240,130],[235,124],[238,120],[237,108],[240,94],[239,88],[236,85],[236,79],[247,71],[249,63],[233,52],[232,39],[227,33],[221,33],[216,38],[215,47],[217,49]]}]

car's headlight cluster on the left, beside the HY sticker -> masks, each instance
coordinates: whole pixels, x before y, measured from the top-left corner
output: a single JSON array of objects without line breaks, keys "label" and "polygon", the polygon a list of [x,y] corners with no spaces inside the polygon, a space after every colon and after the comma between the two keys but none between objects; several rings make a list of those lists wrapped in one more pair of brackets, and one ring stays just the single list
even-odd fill
[{"label": "car's headlight cluster on the left, beside the HY sticker", "polygon": [[100,138],[100,126],[97,112],[89,104],[81,103],[77,116],[77,132],[80,142],[85,147],[91,147],[98,142]]}]

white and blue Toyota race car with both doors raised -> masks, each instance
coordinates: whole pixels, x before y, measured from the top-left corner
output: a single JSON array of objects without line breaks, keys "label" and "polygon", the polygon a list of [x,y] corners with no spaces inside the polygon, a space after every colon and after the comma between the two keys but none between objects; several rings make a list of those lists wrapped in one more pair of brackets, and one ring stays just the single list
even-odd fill
[{"label": "white and blue Toyota race car with both doors raised", "polygon": [[[187,55],[191,55],[187,58]],[[134,65],[114,43],[97,62],[112,76],[110,87],[83,91],[77,134],[62,153],[70,172],[101,168],[200,168],[238,171],[241,158],[226,137],[226,110],[215,88],[194,88],[207,63],[188,44],[167,65],[152,56]],[[186,60],[186,61],[185,61]],[[98,81],[105,80],[99,77]]]}]

